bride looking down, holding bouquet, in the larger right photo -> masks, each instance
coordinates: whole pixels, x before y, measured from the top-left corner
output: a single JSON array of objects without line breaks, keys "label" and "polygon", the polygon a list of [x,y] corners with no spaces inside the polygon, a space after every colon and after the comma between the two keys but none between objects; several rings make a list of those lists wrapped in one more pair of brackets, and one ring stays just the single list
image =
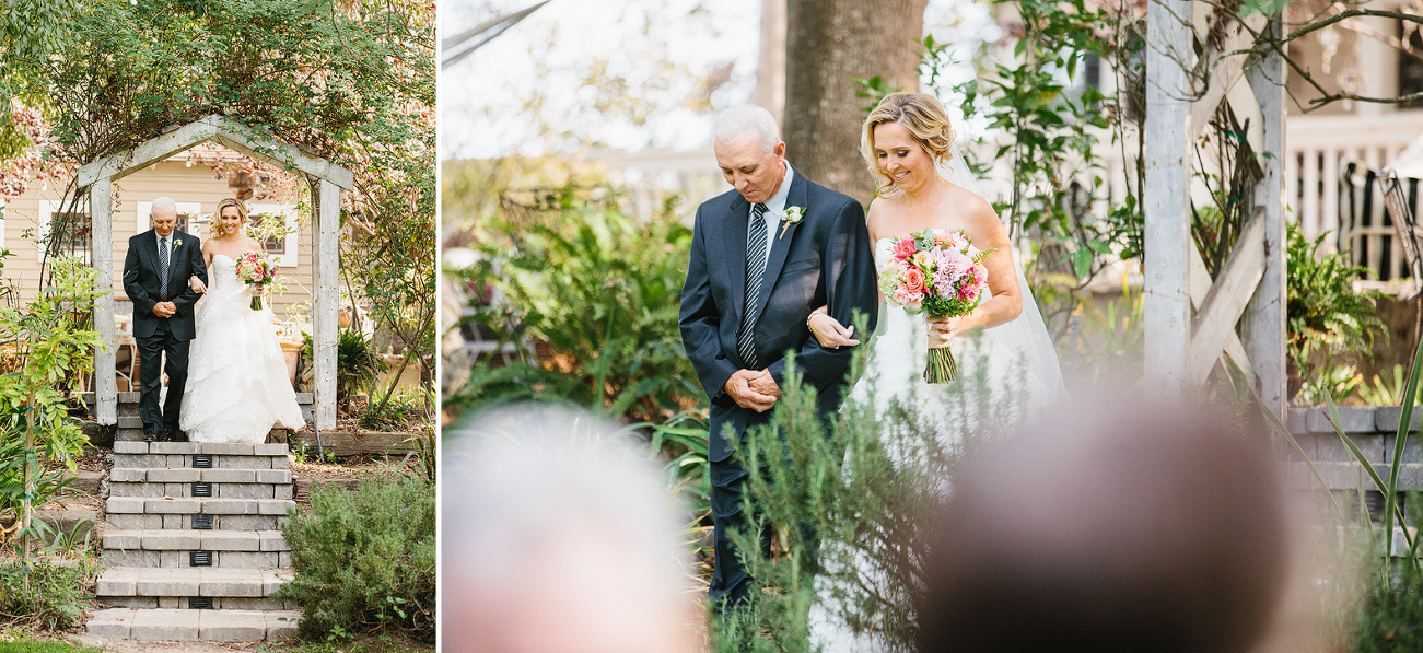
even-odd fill
[{"label": "bride looking down, holding bouquet, in the larger right photo", "polygon": [[[963,414],[963,407],[973,404],[963,401],[965,395],[986,393],[990,404],[1002,405],[1005,388],[1012,388],[1006,404],[1026,413],[1056,403],[1066,393],[1052,339],[1007,230],[959,156],[943,107],[926,94],[887,95],[865,120],[861,137],[869,171],[882,182],[867,219],[877,266],[888,260],[898,239],[924,229],[962,229],[973,246],[993,252],[983,262],[990,296],[965,316],[926,320],[898,306],[881,306],[865,373],[851,398],[865,401],[872,395],[879,414],[894,398],[911,401],[936,418],[949,438],[980,425],[975,424],[975,415]],[[808,326],[821,346],[859,344],[852,327],[820,310],[811,314]],[[958,380],[951,384],[922,381],[932,340],[952,341]],[[1003,423],[1020,417],[1025,415],[995,414]],[[834,616],[825,580],[817,579],[817,588],[813,644],[835,653],[885,650],[874,637],[854,635],[844,619]]]}]

